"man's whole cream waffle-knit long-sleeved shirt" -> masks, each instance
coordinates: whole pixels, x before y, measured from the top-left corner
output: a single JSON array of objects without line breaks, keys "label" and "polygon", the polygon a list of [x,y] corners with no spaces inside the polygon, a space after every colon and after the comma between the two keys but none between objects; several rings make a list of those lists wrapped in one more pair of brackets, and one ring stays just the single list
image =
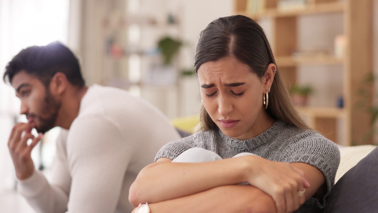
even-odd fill
[{"label": "man's whole cream waffle-knit long-sleeved shirt", "polygon": [[158,150],[180,136],[150,103],[128,92],[91,86],[69,130],[56,143],[51,182],[40,171],[19,192],[44,213],[131,212],[129,188]]}]

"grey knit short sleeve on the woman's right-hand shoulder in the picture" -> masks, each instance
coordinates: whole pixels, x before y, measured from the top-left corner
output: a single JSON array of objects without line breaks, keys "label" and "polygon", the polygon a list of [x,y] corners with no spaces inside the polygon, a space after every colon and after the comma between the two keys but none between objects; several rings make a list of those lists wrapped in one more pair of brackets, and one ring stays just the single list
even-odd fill
[{"label": "grey knit short sleeve on the woman's right-hand shoulder in the picture", "polygon": [[[335,185],[336,171],[340,163],[340,151],[330,140],[315,131],[308,131],[296,137],[285,153],[288,163],[307,163],[318,168],[324,175],[327,192],[322,200],[314,200],[320,208],[325,207],[330,191]],[[311,198],[312,199],[312,198]]]}]

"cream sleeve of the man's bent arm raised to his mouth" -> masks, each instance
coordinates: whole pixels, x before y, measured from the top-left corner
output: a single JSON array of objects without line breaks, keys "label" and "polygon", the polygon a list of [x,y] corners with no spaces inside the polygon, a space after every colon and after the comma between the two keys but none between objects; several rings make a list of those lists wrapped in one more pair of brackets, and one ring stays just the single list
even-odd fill
[{"label": "cream sleeve of the man's bent arm raised to his mouth", "polygon": [[67,211],[71,177],[65,161],[67,131],[61,130],[56,141],[56,157],[53,163],[52,181],[49,183],[40,171],[25,180],[19,180],[18,190],[37,212],[63,213]]}]

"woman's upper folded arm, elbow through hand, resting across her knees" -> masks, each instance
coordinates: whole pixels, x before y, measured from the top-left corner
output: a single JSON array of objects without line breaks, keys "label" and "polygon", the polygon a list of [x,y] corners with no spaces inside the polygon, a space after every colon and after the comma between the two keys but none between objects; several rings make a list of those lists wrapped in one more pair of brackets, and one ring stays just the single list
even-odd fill
[{"label": "woman's upper folded arm, elbow through hand, resting across her knees", "polygon": [[[133,205],[156,203],[217,186],[249,182],[272,196],[279,212],[284,212],[303,204],[304,197],[299,199],[297,192],[309,187],[304,172],[295,166],[257,156],[203,163],[170,162],[162,158],[142,169],[130,187],[129,200]],[[290,206],[285,207],[287,204]]]}]

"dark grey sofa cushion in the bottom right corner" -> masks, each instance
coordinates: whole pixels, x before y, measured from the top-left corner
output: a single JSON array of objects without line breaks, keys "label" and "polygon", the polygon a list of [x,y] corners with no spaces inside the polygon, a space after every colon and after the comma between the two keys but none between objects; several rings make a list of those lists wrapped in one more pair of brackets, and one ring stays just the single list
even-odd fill
[{"label": "dark grey sofa cushion in the bottom right corner", "polygon": [[378,212],[378,147],[332,188],[324,213]]}]

